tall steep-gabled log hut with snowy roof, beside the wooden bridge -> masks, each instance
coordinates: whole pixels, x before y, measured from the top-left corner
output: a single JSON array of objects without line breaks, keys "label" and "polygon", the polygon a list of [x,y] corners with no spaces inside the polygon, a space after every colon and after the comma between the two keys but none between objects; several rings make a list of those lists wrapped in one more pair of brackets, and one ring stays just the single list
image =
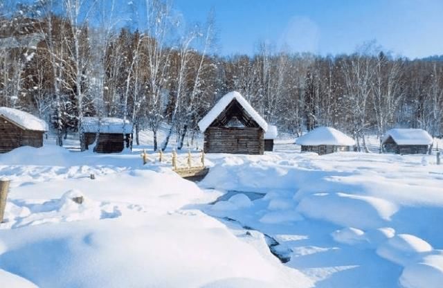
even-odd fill
[{"label": "tall steep-gabled log hut with snowy roof, beside the wooden bridge", "polygon": [[227,93],[199,122],[206,153],[263,154],[266,121],[237,91]]}]

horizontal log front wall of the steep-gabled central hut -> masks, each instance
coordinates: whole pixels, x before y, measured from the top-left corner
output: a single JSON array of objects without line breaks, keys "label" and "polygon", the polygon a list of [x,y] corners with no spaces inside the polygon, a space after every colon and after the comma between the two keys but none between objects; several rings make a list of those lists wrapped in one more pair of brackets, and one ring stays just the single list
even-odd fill
[{"label": "horizontal log front wall of the steep-gabled central hut", "polygon": [[208,127],[206,153],[264,154],[264,131],[261,127]]}]

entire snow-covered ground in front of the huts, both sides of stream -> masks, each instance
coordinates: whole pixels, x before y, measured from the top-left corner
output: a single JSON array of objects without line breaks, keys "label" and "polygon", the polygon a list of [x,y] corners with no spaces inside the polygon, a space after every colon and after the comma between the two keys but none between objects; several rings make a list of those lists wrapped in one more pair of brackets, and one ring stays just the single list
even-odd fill
[{"label": "entire snow-covered ground in front of the huts, both sides of stream", "polygon": [[0,286],[441,287],[435,155],[318,156],[291,143],[209,154],[197,184],[139,152],[1,154],[12,183]]}]

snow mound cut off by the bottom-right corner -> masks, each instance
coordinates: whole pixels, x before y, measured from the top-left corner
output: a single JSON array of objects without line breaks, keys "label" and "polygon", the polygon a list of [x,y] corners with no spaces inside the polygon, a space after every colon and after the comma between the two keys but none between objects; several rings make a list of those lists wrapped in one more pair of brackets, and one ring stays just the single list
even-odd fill
[{"label": "snow mound cut off by the bottom-right corner", "polygon": [[441,288],[443,255],[428,255],[420,262],[406,266],[400,284],[406,288]]}]

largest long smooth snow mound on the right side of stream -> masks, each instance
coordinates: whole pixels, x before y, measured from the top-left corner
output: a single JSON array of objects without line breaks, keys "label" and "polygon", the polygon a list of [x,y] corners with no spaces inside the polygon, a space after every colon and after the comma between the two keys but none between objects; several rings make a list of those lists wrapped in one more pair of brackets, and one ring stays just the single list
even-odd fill
[{"label": "largest long smooth snow mound on the right side of stream", "polygon": [[316,193],[302,198],[298,212],[344,227],[361,229],[386,226],[397,206],[385,199],[345,193]]}]

